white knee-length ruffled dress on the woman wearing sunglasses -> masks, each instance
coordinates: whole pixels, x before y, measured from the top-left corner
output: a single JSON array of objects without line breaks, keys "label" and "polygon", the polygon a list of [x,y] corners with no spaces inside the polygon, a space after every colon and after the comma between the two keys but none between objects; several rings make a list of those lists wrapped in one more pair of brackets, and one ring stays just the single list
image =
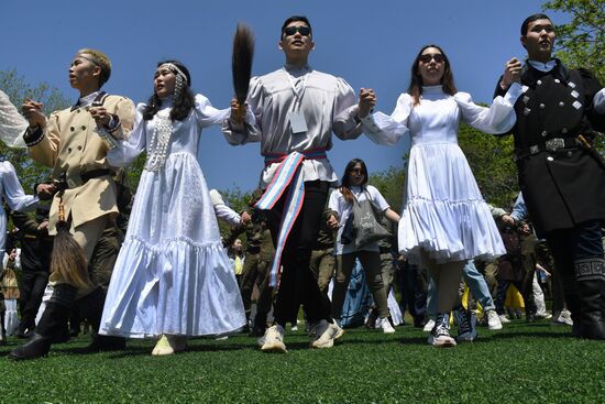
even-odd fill
[{"label": "white knee-length ruffled dress on the woman wearing sunglasses", "polygon": [[485,108],[466,92],[449,96],[441,86],[427,86],[419,105],[403,94],[392,116],[376,112],[363,120],[366,135],[376,143],[394,144],[407,133],[411,138],[398,242],[399,252],[413,262],[419,262],[420,249],[438,263],[506,253],[458,145],[458,129],[463,120],[483,132],[506,132],[515,123],[510,97],[498,97]]}]

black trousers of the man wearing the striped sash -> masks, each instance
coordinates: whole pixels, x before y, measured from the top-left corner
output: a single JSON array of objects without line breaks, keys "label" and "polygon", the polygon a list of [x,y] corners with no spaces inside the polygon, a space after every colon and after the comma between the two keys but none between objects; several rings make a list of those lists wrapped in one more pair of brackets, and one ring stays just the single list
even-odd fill
[{"label": "black trousers of the man wearing the striped sash", "polygon": [[[280,326],[297,318],[300,304],[309,323],[321,319],[331,320],[330,301],[320,292],[317,277],[309,269],[312,247],[323,220],[329,188],[330,185],[327,182],[305,183],[302,207],[282,253],[283,269],[274,307],[275,323]],[[273,209],[267,211],[267,225],[275,244],[277,244],[286,194],[287,192]]]}]

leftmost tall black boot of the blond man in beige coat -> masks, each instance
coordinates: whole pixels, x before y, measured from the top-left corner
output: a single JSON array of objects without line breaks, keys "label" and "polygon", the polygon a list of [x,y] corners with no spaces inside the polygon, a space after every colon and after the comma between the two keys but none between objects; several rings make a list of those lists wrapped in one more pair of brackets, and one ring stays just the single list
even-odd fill
[{"label": "leftmost tall black boot of the blond man in beige coat", "polygon": [[65,329],[77,292],[76,287],[68,284],[55,285],[35,331],[28,342],[9,353],[9,359],[36,359],[48,353],[56,334]]}]

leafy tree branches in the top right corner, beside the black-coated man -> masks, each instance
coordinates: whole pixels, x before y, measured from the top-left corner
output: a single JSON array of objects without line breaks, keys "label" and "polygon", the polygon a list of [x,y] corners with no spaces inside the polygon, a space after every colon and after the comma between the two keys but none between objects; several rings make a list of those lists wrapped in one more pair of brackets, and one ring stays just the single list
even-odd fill
[{"label": "leafy tree branches in the top right corner, beside the black-coated man", "polygon": [[557,26],[557,56],[605,80],[605,0],[551,0],[542,9],[561,11],[571,21]]}]

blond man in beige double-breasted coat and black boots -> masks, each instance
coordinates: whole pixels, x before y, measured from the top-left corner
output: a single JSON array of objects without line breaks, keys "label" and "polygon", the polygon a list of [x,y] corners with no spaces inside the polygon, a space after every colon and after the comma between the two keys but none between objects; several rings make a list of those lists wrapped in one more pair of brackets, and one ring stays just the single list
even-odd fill
[{"label": "blond man in beige double-breasted coat and black boots", "polygon": [[[23,103],[28,119],[23,139],[36,162],[53,168],[51,184],[38,184],[41,198],[53,198],[48,232],[57,233],[58,207],[65,207],[69,232],[90,260],[95,245],[108,226],[112,226],[118,207],[112,168],[107,152],[113,139],[124,139],[134,119],[133,102],[110,96],[100,88],[111,75],[111,64],[101,52],[81,50],[69,67],[69,83],[79,91],[78,102],[55,111],[48,119],[42,105],[33,100]],[[94,327],[98,329],[105,303],[99,285],[78,287],[62,273],[51,274],[53,296],[28,343],[14,349],[11,359],[34,359],[45,356],[53,336],[65,327],[76,298]],[[92,348],[123,347],[123,340],[97,336]]]}]

